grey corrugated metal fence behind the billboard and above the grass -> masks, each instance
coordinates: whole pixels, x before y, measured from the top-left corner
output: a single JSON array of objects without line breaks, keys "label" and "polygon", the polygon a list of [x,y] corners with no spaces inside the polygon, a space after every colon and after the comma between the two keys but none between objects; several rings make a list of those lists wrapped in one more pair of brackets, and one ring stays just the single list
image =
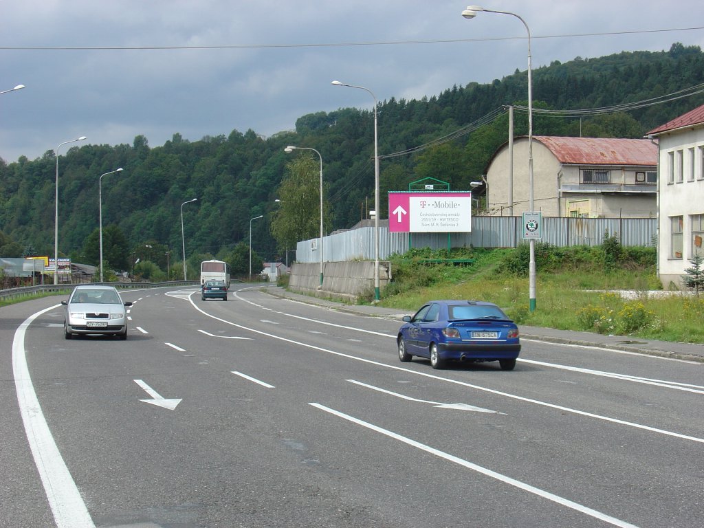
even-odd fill
[{"label": "grey corrugated metal fence behind the billboard and above the grass", "polygon": [[[468,233],[397,233],[379,226],[379,258],[406,253],[410,248],[447,249],[462,247],[515,248],[523,242],[521,217],[475,216]],[[558,247],[601,246],[605,234],[617,236],[623,246],[654,246],[656,218],[542,218],[541,241]],[[320,262],[318,239],[296,245],[298,262]],[[330,234],[323,239],[326,262],[374,260],[374,227]]]}]

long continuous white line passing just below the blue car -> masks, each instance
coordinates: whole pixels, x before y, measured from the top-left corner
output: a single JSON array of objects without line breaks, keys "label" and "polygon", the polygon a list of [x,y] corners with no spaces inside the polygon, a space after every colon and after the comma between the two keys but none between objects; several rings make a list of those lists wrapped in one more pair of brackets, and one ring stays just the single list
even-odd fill
[{"label": "long continuous white line passing just below the blue car", "polygon": [[461,382],[461,381],[459,381],[458,379],[450,379],[450,378],[446,378],[446,377],[437,376],[437,375],[434,375],[434,374],[429,374],[429,373],[427,373],[427,372],[420,372],[420,371],[418,371],[418,370],[411,370],[411,369],[409,369],[409,368],[400,367],[400,366],[398,366],[398,365],[389,365],[388,363],[381,363],[381,362],[379,362],[379,361],[375,361],[375,360],[371,360],[371,359],[367,359],[367,358],[359,358],[358,356],[351,356],[350,354],[346,354],[346,353],[342,353],[342,352],[337,352],[337,351],[334,351],[334,350],[330,350],[329,348],[322,348],[322,346],[315,346],[315,345],[311,345],[311,344],[308,344],[308,343],[302,343],[301,341],[295,341],[294,339],[287,339],[286,337],[277,336],[277,335],[275,335],[275,334],[268,334],[267,332],[262,332],[261,330],[256,330],[256,329],[253,329],[253,328],[245,327],[245,326],[242,326],[242,325],[238,325],[238,324],[235,323],[235,322],[232,322],[232,321],[228,321],[228,320],[219,318],[219,317],[217,317],[217,316],[215,316],[215,315],[212,315],[212,314],[206,312],[205,310],[201,309],[199,306],[196,305],[196,303],[194,303],[194,301],[193,301],[192,298],[189,298],[189,301],[190,301],[190,303],[191,303],[191,306],[193,306],[193,308],[195,308],[196,310],[198,310],[200,313],[202,313],[202,314],[205,315],[206,317],[209,317],[209,318],[218,320],[218,321],[220,321],[220,322],[222,322],[222,323],[225,323],[225,325],[231,325],[231,326],[234,326],[234,327],[237,327],[237,328],[241,328],[241,329],[244,329],[244,330],[248,330],[249,332],[254,332],[255,334],[260,334],[260,335],[263,335],[263,336],[266,336],[266,337],[270,337],[271,339],[277,339],[277,340],[279,340],[279,341],[284,341],[285,343],[290,343],[290,344],[295,344],[295,345],[298,345],[298,346],[303,346],[303,347],[306,347],[306,348],[310,348],[311,350],[317,350],[317,351],[321,351],[321,352],[333,354],[334,356],[339,356],[340,358],[352,359],[352,360],[355,360],[355,361],[360,361],[360,362],[362,362],[362,363],[367,363],[367,364],[369,364],[369,365],[377,365],[377,366],[379,366],[379,367],[386,367],[386,368],[390,368],[390,369],[392,369],[392,370],[398,370],[398,371],[401,371],[401,372],[408,372],[409,374],[413,374],[413,375],[416,375],[416,376],[427,377],[427,378],[430,378],[430,379],[438,379],[438,380],[440,380],[440,381],[442,381],[442,382],[453,383],[453,384],[456,384],[456,385],[465,386],[465,387],[467,387],[467,388],[469,388],[469,389],[476,389],[476,390],[478,390],[478,391],[488,392],[489,394],[496,394],[497,396],[504,396],[505,398],[511,398],[511,399],[514,399],[514,400],[517,400],[517,401],[524,401],[524,402],[526,402],[526,403],[534,403],[535,405],[539,405],[539,406],[543,406],[543,407],[548,407],[548,408],[555,409],[555,410],[562,410],[562,411],[565,411],[565,413],[573,413],[573,414],[575,414],[575,415],[580,415],[580,416],[585,416],[585,417],[591,417],[591,418],[595,418],[596,420],[603,420],[604,422],[610,422],[610,423],[614,423],[614,424],[617,424],[617,425],[626,425],[626,426],[628,426],[628,427],[634,427],[634,428],[636,428],[636,429],[643,429],[643,430],[645,430],[645,431],[655,432],[655,433],[658,433],[658,434],[665,434],[665,435],[667,435],[667,436],[674,436],[675,438],[679,438],[679,439],[683,439],[683,440],[695,441],[695,442],[699,442],[700,444],[704,444],[704,438],[698,438],[697,436],[689,436],[689,435],[686,435],[686,434],[680,434],[680,433],[677,433],[677,432],[667,431],[667,430],[665,430],[665,429],[657,429],[657,428],[655,428],[655,427],[650,427],[650,426],[648,426],[648,425],[637,424],[637,423],[635,423],[635,422],[627,422],[627,421],[625,421],[625,420],[619,420],[618,418],[612,418],[612,417],[608,417],[608,416],[597,415],[597,414],[594,414],[594,413],[587,413],[587,412],[584,411],[584,410],[573,409],[573,408],[564,407],[564,406],[558,406],[558,405],[555,405],[555,403],[548,403],[548,402],[546,402],[546,401],[534,400],[534,399],[532,399],[532,398],[526,398],[526,397],[524,397],[524,396],[518,396],[517,394],[510,394],[510,393],[508,393],[508,392],[497,391],[496,389],[489,389],[488,387],[484,387],[484,386],[480,386],[480,385],[474,385],[474,384],[470,384],[470,383],[467,383],[467,382]]}]

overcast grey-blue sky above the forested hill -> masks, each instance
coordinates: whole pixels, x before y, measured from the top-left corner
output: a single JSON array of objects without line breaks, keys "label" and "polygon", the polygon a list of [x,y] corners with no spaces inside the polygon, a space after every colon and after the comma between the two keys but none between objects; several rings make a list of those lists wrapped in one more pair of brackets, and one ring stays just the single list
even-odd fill
[{"label": "overcast grey-blue sky above the forested hill", "polygon": [[[533,68],[620,51],[704,48],[701,0],[491,0],[532,34]],[[0,0],[0,157],[65,145],[160,146],[301,115],[420,99],[527,68],[518,18],[458,0]],[[534,99],[540,99],[535,93]],[[383,153],[382,153],[383,154]]]}]

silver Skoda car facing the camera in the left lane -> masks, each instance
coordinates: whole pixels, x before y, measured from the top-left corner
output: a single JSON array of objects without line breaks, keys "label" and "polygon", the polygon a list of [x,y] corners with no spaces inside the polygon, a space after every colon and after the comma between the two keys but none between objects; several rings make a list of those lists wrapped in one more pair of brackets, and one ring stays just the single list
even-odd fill
[{"label": "silver Skoda car facing the camera in the left lane", "polygon": [[63,335],[71,339],[73,334],[107,334],[127,339],[127,314],[117,289],[112,286],[85,284],[71,292],[63,315]]}]

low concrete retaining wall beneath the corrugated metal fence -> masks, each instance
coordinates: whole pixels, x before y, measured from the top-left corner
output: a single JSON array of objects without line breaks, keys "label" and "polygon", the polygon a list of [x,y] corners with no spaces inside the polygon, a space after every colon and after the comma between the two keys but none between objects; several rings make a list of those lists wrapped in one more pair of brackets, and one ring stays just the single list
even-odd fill
[{"label": "low concrete retaining wall beneath the corrugated metal fence", "polygon": [[[368,260],[326,262],[320,286],[320,263],[294,263],[289,274],[289,289],[316,297],[341,297],[357,301],[374,296],[374,263]],[[379,287],[391,279],[391,263],[379,262]]]}]

